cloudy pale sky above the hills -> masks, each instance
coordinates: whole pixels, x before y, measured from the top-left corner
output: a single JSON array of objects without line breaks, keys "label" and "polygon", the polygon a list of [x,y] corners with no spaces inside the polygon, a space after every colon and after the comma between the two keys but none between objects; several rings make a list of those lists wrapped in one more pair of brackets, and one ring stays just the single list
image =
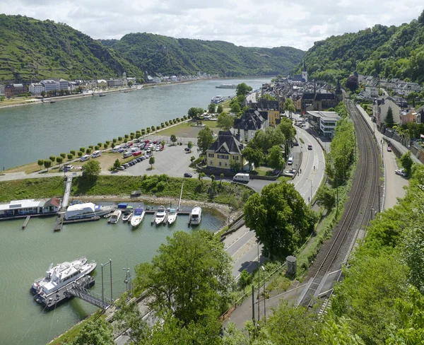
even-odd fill
[{"label": "cloudy pale sky above the hills", "polygon": [[[127,33],[307,50],[332,35],[417,19],[423,0],[1,0],[0,13],[50,19],[94,39]],[[0,23],[1,24],[1,23]]]}]

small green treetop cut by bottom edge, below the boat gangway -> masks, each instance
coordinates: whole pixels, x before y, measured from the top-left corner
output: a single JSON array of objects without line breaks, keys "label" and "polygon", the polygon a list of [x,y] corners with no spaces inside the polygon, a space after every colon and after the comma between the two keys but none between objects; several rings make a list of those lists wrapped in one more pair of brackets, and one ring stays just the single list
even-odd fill
[{"label": "small green treetop cut by bottom edge, below the boat gangway", "polygon": [[76,335],[71,345],[114,345],[113,329],[101,317],[88,321]]}]

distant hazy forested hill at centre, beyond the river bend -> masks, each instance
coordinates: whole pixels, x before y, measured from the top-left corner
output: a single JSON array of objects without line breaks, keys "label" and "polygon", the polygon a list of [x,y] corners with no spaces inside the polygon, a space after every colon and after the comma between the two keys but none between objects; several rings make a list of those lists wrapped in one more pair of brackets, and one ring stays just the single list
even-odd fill
[{"label": "distant hazy forested hill at centre, beyond the river bend", "polygon": [[149,74],[288,74],[305,54],[291,47],[237,47],[222,41],[176,39],[150,33],[130,33],[121,40],[100,42]]}]

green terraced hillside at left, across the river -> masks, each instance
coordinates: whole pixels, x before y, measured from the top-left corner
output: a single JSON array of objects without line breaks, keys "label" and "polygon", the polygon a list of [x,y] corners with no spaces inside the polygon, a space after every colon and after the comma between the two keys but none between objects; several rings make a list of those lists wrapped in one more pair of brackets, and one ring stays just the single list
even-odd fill
[{"label": "green terraced hillside at left, across the river", "polygon": [[0,81],[143,76],[112,49],[64,23],[0,15]]}]

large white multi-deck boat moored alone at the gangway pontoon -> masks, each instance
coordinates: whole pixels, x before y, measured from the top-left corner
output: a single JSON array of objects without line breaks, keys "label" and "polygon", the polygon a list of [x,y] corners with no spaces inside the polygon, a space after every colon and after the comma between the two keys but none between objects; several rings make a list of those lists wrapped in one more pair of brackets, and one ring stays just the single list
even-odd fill
[{"label": "large white multi-deck boat moored alone at the gangway pontoon", "polygon": [[95,262],[88,264],[86,257],[73,260],[73,262],[63,262],[54,267],[53,264],[50,264],[46,275],[42,278],[35,279],[30,291],[40,296],[48,295],[81,276],[90,274],[96,266],[97,264]]}]

